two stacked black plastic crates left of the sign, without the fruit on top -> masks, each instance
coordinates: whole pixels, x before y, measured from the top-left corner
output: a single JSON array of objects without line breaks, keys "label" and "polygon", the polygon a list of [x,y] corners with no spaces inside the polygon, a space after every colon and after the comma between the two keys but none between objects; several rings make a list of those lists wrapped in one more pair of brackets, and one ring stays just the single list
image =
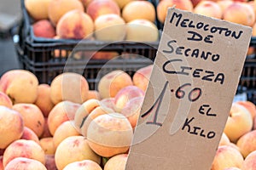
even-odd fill
[{"label": "two stacked black plastic crates left of the sign, without the fruit on top", "polygon": [[[90,47],[90,44],[93,47]],[[154,44],[157,46],[158,44]],[[137,42],[115,42],[103,45],[96,42],[80,42],[79,47],[74,48],[75,43],[65,44],[48,43],[38,44],[26,41],[26,54],[20,55],[20,63],[23,69],[32,71],[40,83],[50,83],[54,77],[65,71],[77,72],[83,75],[90,84],[90,89],[95,89],[99,78],[113,70],[123,70],[129,75],[135,71],[153,64],[157,47]],[[119,54],[114,59],[90,59],[90,56],[77,54],[97,50],[101,52],[116,52]],[[73,51],[68,53],[69,51]],[[55,57],[53,53],[65,52],[67,56]],[[144,57],[146,56],[146,57]]]}]

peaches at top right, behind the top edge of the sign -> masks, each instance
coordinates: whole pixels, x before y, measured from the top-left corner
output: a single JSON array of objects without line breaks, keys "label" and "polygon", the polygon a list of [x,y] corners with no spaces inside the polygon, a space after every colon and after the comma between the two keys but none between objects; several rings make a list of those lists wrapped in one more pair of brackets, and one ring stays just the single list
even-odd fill
[{"label": "peaches at top right, behind the top edge of the sign", "polygon": [[[160,0],[157,5],[157,17],[161,23],[166,18],[168,7],[187,10],[195,14],[228,20],[244,26],[255,25],[256,3],[254,1],[240,0]],[[256,30],[255,30],[256,31]],[[254,32],[255,36],[256,32]]]}]

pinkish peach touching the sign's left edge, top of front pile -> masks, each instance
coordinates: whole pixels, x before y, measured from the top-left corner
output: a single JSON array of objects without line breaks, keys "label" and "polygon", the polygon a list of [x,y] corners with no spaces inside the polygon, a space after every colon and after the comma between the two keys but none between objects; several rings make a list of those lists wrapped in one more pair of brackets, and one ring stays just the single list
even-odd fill
[{"label": "pinkish peach touching the sign's left edge, top of front pile", "polygon": [[132,77],[133,84],[138,88],[141,88],[144,92],[146,92],[148,88],[148,83],[150,80],[152,69],[153,65],[148,65],[137,70]]}]

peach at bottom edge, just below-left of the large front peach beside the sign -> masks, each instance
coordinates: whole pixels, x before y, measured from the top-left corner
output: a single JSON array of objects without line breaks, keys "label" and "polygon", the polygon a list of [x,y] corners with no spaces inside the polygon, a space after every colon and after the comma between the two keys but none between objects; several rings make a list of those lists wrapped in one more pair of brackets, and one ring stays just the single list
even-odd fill
[{"label": "peach at bottom edge, just below-left of the large front peach beside the sign", "polygon": [[56,167],[61,170],[74,161],[91,160],[101,162],[101,157],[90,149],[83,136],[72,136],[64,139],[55,151]]}]

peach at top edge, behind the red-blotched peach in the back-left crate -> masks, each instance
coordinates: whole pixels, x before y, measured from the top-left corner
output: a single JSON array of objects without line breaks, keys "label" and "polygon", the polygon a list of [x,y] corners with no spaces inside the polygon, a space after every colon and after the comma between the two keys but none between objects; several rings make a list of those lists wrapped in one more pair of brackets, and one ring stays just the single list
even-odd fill
[{"label": "peach at top edge, behind the red-blotched peach in the back-left crate", "polygon": [[51,0],[48,8],[49,20],[56,26],[61,17],[73,9],[84,12],[83,3],[79,0]]}]

